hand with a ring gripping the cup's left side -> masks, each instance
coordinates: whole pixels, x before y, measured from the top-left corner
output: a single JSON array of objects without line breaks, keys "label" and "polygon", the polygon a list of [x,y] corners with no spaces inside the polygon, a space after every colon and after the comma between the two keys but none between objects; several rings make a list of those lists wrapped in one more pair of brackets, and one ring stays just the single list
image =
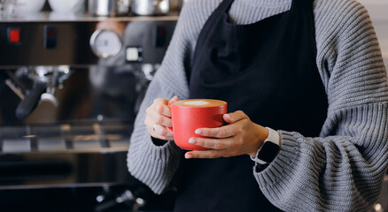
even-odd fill
[{"label": "hand with a ring gripping the cup's left side", "polygon": [[[174,135],[167,130],[167,127],[173,127],[171,109],[168,104],[176,101],[178,101],[176,96],[170,100],[158,98],[145,110],[144,124],[152,137],[160,140],[174,140]],[[157,125],[154,131],[155,124]]]}]

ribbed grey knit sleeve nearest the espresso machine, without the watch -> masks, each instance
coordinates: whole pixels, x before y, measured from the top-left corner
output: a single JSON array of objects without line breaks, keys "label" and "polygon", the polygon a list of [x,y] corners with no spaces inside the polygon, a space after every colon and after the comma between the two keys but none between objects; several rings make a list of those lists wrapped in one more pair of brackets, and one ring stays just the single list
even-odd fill
[{"label": "ribbed grey knit sleeve nearest the espresso machine, without the watch", "polygon": [[185,76],[185,66],[190,63],[190,42],[188,42],[187,13],[182,15],[175,27],[175,33],[167,49],[162,64],[152,79],[136,116],[134,132],[131,135],[127,164],[129,172],[149,186],[154,193],[162,193],[174,178],[182,158],[182,150],[174,141],[163,146],[155,145],[144,125],[145,110],[156,98],[170,99],[174,95],[180,99],[188,97],[189,90]]}]

